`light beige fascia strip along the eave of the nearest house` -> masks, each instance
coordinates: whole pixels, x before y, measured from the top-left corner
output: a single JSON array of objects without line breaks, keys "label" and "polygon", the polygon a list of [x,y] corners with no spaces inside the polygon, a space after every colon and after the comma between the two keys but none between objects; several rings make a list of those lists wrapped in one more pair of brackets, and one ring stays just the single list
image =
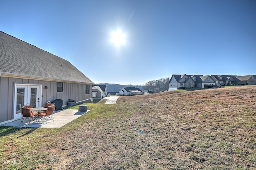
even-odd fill
[{"label": "light beige fascia strip along the eave of the nearest house", "polygon": [[65,83],[78,83],[78,84],[89,84],[89,85],[94,85],[94,83],[85,83],[85,82],[78,82],[78,81],[67,81],[63,79],[49,79],[49,78],[44,78],[44,77],[35,77],[31,75],[22,75],[22,74],[16,74],[16,73],[8,73],[8,72],[3,72],[0,71],[0,77],[12,77],[12,78],[21,78],[21,79],[36,79],[36,80],[43,80],[43,81],[61,81]]}]

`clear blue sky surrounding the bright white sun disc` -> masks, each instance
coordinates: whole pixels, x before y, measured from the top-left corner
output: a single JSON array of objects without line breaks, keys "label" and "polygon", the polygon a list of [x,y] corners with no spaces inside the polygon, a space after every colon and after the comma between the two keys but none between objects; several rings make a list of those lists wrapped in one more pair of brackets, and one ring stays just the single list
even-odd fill
[{"label": "clear blue sky surrounding the bright white sun disc", "polygon": [[[94,83],[256,75],[255,0],[1,0],[0,30]],[[116,47],[117,29],[126,43]]]}]

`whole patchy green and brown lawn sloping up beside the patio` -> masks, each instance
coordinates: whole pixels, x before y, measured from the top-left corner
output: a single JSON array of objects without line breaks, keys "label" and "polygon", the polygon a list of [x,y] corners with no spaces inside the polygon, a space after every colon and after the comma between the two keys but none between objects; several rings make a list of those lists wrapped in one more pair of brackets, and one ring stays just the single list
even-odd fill
[{"label": "whole patchy green and brown lawn sloping up beside the patio", "polygon": [[62,128],[0,127],[0,169],[256,168],[256,86],[119,98]]}]

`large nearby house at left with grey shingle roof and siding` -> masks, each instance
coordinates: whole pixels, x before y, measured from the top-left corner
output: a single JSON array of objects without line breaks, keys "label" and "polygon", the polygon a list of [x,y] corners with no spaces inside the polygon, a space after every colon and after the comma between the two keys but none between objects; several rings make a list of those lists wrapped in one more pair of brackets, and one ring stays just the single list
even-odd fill
[{"label": "large nearby house at left with grey shingle roof and siding", "polygon": [[0,124],[21,118],[21,107],[92,99],[94,83],[69,61],[0,31]]}]

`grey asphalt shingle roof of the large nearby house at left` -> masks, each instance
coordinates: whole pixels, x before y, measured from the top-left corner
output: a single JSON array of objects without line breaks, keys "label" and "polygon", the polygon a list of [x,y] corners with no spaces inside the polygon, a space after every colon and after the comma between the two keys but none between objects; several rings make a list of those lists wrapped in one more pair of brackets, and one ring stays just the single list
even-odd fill
[{"label": "grey asphalt shingle roof of the large nearby house at left", "polygon": [[69,61],[0,31],[0,73],[94,84]]}]

